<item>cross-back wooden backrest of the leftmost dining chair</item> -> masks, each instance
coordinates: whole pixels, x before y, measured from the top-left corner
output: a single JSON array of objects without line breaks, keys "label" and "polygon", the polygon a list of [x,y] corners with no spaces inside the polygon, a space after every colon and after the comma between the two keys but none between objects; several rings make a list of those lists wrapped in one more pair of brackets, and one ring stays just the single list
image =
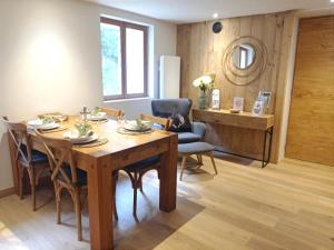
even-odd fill
[{"label": "cross-back wooden backrest of the leftmost dining chair", "polygon": [[0,119],[8,129],[14,144],[14,160],[19,160],[24,166],[31,163],[31,146],[27,126],[22,122],[10,122],[7,117]]}]

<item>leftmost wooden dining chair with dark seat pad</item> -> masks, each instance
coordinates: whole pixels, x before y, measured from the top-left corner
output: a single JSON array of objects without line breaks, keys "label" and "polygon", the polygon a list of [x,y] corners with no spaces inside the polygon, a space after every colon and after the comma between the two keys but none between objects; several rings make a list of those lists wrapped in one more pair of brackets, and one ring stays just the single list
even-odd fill
[{"label": "leftmost wooden dining chair with dark seat pad", "polygon": [[24,123],[10,122],[7,117],[2,117],[2,122],[6,124],[14,146],[14,161],[18,163],[20,198],[23,199],[23,171],[26,169],[31,187],[32,211],[36,211],[36,186],[38,186],[41,174],[49,170],[48,158],[46,154],[31,149]]}]

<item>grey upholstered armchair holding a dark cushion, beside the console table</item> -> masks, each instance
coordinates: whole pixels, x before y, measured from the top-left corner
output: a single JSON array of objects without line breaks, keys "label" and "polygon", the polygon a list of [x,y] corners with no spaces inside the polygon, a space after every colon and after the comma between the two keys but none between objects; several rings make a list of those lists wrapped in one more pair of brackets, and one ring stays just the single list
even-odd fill
[{"label": "grey upholstered armchair holding a dark cushion, beside the console table", "polygon": [[[176,113],[189,117],[193,106],[190,99],[159,99],[151,101],[151,111],[155,117],[173,117]],[[202,122],[190,122],[188,131],[178,132],[178,143],[200,141],[205,134],[206,126]]]}]

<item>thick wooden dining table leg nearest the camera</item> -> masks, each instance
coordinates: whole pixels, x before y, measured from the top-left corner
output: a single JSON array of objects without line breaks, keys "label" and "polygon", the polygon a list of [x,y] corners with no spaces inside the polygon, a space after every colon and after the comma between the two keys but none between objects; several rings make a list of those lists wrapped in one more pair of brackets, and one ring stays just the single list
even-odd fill
[{"label": "thick wooden dining table leg nearest the camera", "polygon": [[90,248],[114,249],[112,171],[110,158],[95,159],[87,171]]}]

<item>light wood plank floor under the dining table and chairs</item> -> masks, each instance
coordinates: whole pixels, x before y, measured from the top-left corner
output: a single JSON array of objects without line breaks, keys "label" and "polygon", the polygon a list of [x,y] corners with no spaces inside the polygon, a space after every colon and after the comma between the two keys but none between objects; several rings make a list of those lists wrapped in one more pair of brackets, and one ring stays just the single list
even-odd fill
[{"label": "light wood plank floor under the dining table and chairs", "polygon": [[[219,173],[213,176],[204,160],[203,170],[187,171],[178,183],[178,207],[170,214],[158,210],[158,181],[149,173],[138,222],[131,216],[130,182],[120,178],[116,249],[334,249],[333,167],[284,160],[261,169],[258,162],[228,159],[217,160]],[[39,203],[49,202],[37,212],[31,212],[29,197],[0,200],[0,249],[89,249],[87,208],[86,241],[78,242],[70,200],[58,226],[52,191],[40,190],[38,197]]]}]

